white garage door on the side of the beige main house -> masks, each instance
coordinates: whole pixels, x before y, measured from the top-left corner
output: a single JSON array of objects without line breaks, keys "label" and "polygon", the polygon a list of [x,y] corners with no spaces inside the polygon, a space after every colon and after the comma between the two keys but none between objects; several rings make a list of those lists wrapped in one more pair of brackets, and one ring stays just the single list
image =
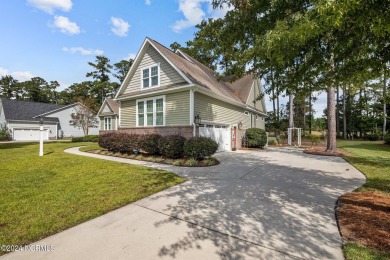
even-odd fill
[{"label": "white garage door on the side of the beige main house", "polygon": [[230,128],[226,125],[201,124],[199,135],[210,137],[218,143],[218,151],[230,151]]}]

